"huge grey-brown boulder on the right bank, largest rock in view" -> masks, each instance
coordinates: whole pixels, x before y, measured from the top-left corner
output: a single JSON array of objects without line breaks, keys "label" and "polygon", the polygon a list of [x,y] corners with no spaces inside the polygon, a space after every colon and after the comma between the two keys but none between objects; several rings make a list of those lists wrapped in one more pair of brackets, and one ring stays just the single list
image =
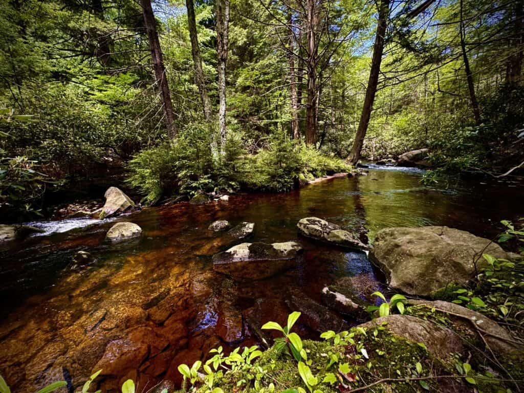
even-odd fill
[{"label": "huge grey-brown boulder on the right bank, largest rock in view", "polygon": [[429,296],[450,283],[464,285],[474,278],[487,264],[482,254],[509,257],[496,243],[466,231],[397,227],[377,232],[369,259],[384,271],[390,287]]}]

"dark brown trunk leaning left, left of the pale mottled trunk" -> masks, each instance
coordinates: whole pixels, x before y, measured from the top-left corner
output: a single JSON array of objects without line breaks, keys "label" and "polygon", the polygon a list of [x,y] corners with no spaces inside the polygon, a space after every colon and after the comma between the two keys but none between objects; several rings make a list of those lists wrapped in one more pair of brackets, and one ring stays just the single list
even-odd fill
[{"label": "dark brown trunk leaning left, left of the pale mottled trunk", "polygon": [[158,40],[157,22],[151,7],[151,0],[140,0],[140,4],[143,9],[144,25],[147,30],[149,48],[151,49],[151,57],[153,59],[153,68],[155,69],[155,81],[157,88],[160,91],[160,99],[162,100],[163,112],[166,117],[168,134],[171,138],[174,138],[177,136],[177,129],[174,125],[173,104],[171,103],[166,68],[163,65],[160,41]]}]

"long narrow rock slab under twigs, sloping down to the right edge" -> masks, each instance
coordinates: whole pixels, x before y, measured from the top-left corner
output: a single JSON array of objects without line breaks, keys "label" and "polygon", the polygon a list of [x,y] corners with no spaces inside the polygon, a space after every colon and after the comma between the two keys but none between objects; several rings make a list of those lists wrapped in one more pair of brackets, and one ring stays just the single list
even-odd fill
[{"label": "long narrow rock slab under twigs, sloping down to the right edge", "polygon": [[[428,309],[435,308],[435,310],[449,313],[447,314],[448,318],[459,327],[460,331],[469,332],[473,336],[483,334],[487,344],[495,352],[500,354],[524,353],[524,345],[519,345],[505,328],[479,312],[442,300],[410,299],[408,303],[411,305],[425,305]],[[475,326],[478,326],[484,332],[478,331]]]}]

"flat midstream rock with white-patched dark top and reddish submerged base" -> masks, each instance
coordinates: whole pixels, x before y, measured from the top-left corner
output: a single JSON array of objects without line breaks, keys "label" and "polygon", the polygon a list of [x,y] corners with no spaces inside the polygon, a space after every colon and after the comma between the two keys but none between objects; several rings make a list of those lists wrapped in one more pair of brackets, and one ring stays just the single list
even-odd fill
[{"label": "flat midstream rock with white-patched dark top and reddish submerged base", "polygon": [[293,268],[302,255],[296,242],[242,243],[213,255],[213,269],[237,279],[259,280]]}]

